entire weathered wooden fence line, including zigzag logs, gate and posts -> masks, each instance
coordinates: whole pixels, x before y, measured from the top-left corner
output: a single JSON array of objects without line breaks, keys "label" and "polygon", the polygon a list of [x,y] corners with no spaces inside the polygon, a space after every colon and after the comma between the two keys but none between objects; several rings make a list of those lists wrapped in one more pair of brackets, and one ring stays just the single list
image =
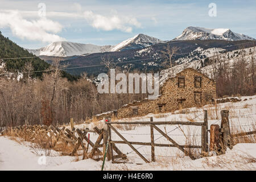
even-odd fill
[{"label": "entire weathered wooden fence line, including zigzag logs, gate and posts", "polygon": [[[115,126],[117,125],[144,125],[150,126],[150,141],[151,142],[130,142],[122,133],[119,133]],[[174,139],[164,133],[159,129],[159,125],[187,125],[187,126],[198,126],[201,127],[201,145],[181,145],[175,142]],[[69,144],[72,150],[61,151],[63,155],[77,155],[77,151],[82,150],[83,159],[92,158],[94,160],[102,160],[103,155],[106,151],[106,156],[108,160],[112,160],[113,163],[119,163],[118,158],[127,159],[127,155],[123,154],[121,150],[115,144],[127,144],[144,162],[149,163],[141,152],[138,151],[133,145],[141,146],[151,146],[151,162],[155,162],[155,147],[176,147],[182,151],[185,155],[189,156],[191,159],[196,159],[196,156],[193,156],[187,148],[201,148],[201,155],[207,156],[209,151],[216,151],[217,154],[224,154],[226,147],[233,147],[233,138],[241,137],[245,135],[256,134],[256,131],[243,132],[239,134],[230,134],[229,126],[229,111],[221,111],[221,127],[219,125],[211,125],[210,130],[208,130],[208,114],[207,110],[204,110],[204,122],[182,122],[182,121],[153,121],[153,118],[150,118],[150,121],[147,122],[112,122],[111,118],[104,123],[102,129],[94,127],[93,130],[89,129],[78,129],[73,127],[71,119],[72,130],[69,130],[67,127],[55,127],[55,126],[17,126],[13,128],[5,129],[3,135],[12,135],[14,137],[24,138],[26,141],[37,142],[36,138],[39,136],[49,143],[48,147],[55,150],[57,143],[62,143],[65,146]],[[159,134],[170,141],[172,144],[162,144],[155,143],[154,139],[154,130],[158,131]],[[122,140],[112,140],[112,131],[117,134]],[[210,144],[208,144],[208,132],[210,132]],[[97,135],[96,142],[86,136],[89,133]],[[90,151],[88,150],[90,146]],[[109,146],[108,148],[106,146]]]}]

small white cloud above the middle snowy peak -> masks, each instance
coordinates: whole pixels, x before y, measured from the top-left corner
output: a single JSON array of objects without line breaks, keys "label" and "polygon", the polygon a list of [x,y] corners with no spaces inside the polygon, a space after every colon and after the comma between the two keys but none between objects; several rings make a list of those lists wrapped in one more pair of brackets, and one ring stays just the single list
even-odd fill
[{"label": "small white cloud above the middle snowy peak", "polygon": [[84,18],[88,20],[92,27],[105,31],[117,29],[124,32],[131,32],[133,30],[131,26],[141,27],[141,23],[136,18],[118,16],[117,14],[104,16],[94,14],[92,11],[85,11]]}]

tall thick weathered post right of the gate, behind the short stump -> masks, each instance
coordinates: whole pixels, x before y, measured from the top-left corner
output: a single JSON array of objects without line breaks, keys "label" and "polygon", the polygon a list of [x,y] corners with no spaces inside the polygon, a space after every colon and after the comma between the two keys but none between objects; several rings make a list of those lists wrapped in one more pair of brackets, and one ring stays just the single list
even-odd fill
[{"label": "tall thick weathered post right of the gate, behind the short stump", "polygon": [[225,154],[226,147],[232,149],[232,137],[229,127],[229,110],[221,110],[221,148]]}]

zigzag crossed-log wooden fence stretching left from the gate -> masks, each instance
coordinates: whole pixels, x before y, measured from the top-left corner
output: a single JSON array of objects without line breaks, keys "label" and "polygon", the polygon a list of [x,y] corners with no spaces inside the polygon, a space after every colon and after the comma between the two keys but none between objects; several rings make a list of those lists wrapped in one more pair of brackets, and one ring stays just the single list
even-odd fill
[{"label": "zigzag crossed-log wooden fence stretching left from the gate", "polygon": [[[72,122],[71,122],[72,126]],[[94,133],[96,134],[97,140],[95,143],[92,142],[86,136],[86,134]],[[77,155],[77,151],[80,149],[83,151],[83,158],[92,158],[94,160],[102,160],[102,150],[104,144],[101,144],[101,140],[104,136],[104,130],[98,129],[98,127],[94,127],[93,130],[89,129],[76,129],[73,127],[72,130],[69,130],[67,127],[55,127],[55,126],[41,126],[41,125],[23,125],[16,127],[7,127],[5,131],[2,131],[2,135],[7,135],[11,137],[19,137],[23,138],[25,141],[29,141],[32,143],[47,143],[43,147],[47,147],[47,149],[57,150],[56,144],[64,144],[64,146],[70,146],[72,148],[71,151],[60,151],[63,155]],[[88,152],[88,148],[91,150]],[[64,147],[66,148],[66,147]],[[124,155],[118,148],[113,145],[113,150],[117,152],[117,156],[114,158],[122,158],[126,159],[126,155]],[[101,157],[99,157],[101,156]],[[95,158],[96,157],[96,158]],[[97,158],[98,157],[98,158]]]}]

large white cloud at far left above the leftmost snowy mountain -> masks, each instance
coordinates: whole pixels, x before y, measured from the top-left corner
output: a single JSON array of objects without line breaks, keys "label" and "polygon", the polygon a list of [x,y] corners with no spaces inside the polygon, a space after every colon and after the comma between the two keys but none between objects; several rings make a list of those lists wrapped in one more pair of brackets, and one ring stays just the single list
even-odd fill
[{"label": "large white cloud at far left above the leftmost snowy mountain", "polygon": [[60,23],[53,22],[47,18],[27,20],[20,15],[19,11],[12,10],[0,13],[1,27],[10,27],[12,33],[21,39],[39,40],[49,43],[65,40],[56,35],[62,29]]}]

